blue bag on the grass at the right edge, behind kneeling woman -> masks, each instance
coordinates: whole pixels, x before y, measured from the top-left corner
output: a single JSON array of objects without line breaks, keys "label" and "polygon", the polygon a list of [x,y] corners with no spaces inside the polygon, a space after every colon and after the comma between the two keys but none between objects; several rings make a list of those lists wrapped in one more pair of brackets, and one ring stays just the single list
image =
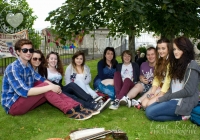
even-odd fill
[{"label": "blue bag on the grass at the right edge, behind kneeling woman", "polygon": [[192,109],[190,120],[192,123],[200,126],[200,101],[197,106]]}]

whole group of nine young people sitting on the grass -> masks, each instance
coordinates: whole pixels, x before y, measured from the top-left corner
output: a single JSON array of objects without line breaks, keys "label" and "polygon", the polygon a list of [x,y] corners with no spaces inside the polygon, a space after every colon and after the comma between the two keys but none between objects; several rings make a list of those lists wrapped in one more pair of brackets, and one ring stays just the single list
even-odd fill
[{"label": "whole group of nine young people sitting on the grass", "polygon": [[[68,117],[86,120],[106,107],[116,110],[122,105],[143,108],[147,118],[155,121],[187,120],[197,105],[200,67],[194,61],[191,41],[166,38],[156,48],[146,51],[147,61],[139,66],[125,50],[122,63],[115,50],[106,47],[97,64],[97,76],[90,87],[90,68],[85,55],[77,51],[64,72],[58,53],[46,58],[34,50],[32,42],[21,39],[15,44],[18,59],[7,66],[2,85],[2,106],[8,114],[21,115],[48,101]],[[65,85],[62,85],[62,77]],[[109,98],[102,100],[102,92]],[[137,95],[140,98],[135,99]]]}]

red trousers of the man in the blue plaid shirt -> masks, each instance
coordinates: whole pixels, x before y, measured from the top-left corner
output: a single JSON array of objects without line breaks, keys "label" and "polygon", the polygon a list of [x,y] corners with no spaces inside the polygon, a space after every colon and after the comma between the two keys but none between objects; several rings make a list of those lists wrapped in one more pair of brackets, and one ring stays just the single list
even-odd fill
[{"label": "red trousers of the man in the blue plaid shirt", "polygon": [[[35,87],[42,87],[46,85],[48,84],[42,82],[35,83]],[[25,114],[46,101],[60,109],[65,114],[68,110],[80,104],[63,93],[57,94],[53,91],[48,91],[40,95],[28,96],[27,98],[19,97],[19,99],[17,99],[17,101],[11,106],[9,114],[13,116]]]}]

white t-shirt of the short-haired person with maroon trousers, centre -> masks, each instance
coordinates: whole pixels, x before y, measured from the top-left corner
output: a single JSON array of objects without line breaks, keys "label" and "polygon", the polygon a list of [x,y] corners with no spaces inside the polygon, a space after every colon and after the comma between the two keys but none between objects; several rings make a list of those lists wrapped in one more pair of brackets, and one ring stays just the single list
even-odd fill
[{"label": "white t-shirt of the short-haired person with maroon trousers, centre", "polygon": [[133,81],[133,67],[131,63],[129,65],[122,65],[121,76],[123,81],[125,78],[129,78]]}]

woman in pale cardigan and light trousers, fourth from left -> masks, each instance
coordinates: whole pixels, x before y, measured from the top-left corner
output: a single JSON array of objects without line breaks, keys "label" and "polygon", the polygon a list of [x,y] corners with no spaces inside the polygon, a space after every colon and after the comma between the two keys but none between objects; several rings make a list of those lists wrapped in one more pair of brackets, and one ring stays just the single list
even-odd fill
[{"label": "woman in pale cardigan and light trousers, fourth from left", "polygon": [[65,83],[76,83],[86,93],[91,95],[93,99],[98,98],[98,94],[91,89],[89,83],[91,81],[90,68],[85,65],[85,55],[83,52],[78,51],[72,57],[71,64],[65,71]]}]

